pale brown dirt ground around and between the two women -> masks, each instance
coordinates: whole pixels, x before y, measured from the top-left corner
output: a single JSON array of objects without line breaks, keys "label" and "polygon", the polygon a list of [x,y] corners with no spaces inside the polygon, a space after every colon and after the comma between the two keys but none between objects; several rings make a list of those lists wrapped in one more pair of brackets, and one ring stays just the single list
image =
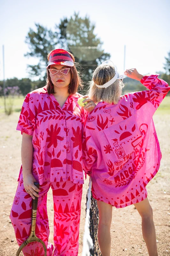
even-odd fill
[{"label": "pale brown dirt ground around and between the two women", "polygon": [[[16,131],[19,113],[11,116],[0,114],[0,255],[16,255],[18,244],[15,239],[9,215],[17,188],[18,173],[21,165],[20,147],[21,134]],[[156,114],[155,127],[162,151],[159,172],[147,185],[148,198],[151,203],[157,235],[159,256],[170,255],[170,115]],[[81,203],[81,223],[79,239],[79,256],[82,252],[82,240],[85,223],[85,194],[88,180],[83,188]],[[53,200],[52,190],[48,192],[48,217],[50,225],[49,241],[53,242]],[[148,255],[142,237],[141,218],[133,205],[113,209],[111,226],[112,245],[111,255]]]}]

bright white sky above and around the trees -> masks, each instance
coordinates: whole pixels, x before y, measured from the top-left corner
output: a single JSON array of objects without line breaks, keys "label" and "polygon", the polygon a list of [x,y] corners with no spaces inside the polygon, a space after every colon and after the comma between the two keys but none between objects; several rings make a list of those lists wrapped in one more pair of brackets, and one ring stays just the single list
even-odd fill
[{"label": "bright white sky above and around the trees", "polygon": [[3,80],[2,45],[5,49],[5,79],[28,77],[27,64],[37,60],[24,57],[29,28],[34,23],[54,29],[63,17],[74,12],[87,14],[95,23],[95,33],[103,42],[105,52],[123,69],[137,68],[141,74],[164,71],[165,57],[170,52],[169,0],[5,0],[0,15],[0,80]]}]

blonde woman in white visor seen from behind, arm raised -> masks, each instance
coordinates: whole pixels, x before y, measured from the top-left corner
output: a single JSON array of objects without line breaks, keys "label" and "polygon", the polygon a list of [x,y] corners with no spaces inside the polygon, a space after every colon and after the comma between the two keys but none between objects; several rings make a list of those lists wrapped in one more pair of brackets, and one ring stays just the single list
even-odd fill
[{"label": "blonde woman in white visor seen from behind, arm raised", "polygon": [[152,207],[146,185],[159,170],[161,152],[152,116],[170,90],[156,75],[125,74],[149,90],[121,96],[122,81],[114,65],[103,63],[93,73],[89,97],[97,103],[85,119],[84,170],[92,177],[99,207],[98,239],[102,256],[110,255],[112,206],[134,204],[150,256],[157,256]]}]

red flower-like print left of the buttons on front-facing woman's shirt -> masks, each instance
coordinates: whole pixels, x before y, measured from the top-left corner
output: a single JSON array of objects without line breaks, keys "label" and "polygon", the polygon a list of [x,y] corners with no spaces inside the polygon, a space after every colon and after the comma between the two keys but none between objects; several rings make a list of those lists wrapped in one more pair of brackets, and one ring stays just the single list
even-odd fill
[{"label": "red flower-like print left of the buttons on front-facing woman's shirt", "polygon": [[50,129],[51,130],[49,130],[48,128],[46,129],[49,135],[49,137],[47,137],[47,140],[46,140],[46,142],[49,142],[47,145],[47,148],[50,148],[52,145],[54,145],[54,148],[56,148],[58,144],[57,140],[63,140],[61,136],[58,136],[61,128],[58,127],[57,129],[57,124],[55,124],[55,127],[53,126],[53,124],[51,124]]}]

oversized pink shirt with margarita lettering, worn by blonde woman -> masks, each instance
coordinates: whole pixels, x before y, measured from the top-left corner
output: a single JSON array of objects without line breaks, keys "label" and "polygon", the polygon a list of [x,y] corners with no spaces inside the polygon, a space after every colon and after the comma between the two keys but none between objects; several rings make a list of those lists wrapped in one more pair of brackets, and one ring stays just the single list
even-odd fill
[{"label": "oversized pink shirt with margarita lettering, worn by blonde woman", "polygon": [[123,95],[118,104],[99,102],[85,119],[83,164],[97,200],[116,207],[136,203],[159,170],[152,116],[170,87],[157,77],[144,76],[141,83],[149,90]]}]

